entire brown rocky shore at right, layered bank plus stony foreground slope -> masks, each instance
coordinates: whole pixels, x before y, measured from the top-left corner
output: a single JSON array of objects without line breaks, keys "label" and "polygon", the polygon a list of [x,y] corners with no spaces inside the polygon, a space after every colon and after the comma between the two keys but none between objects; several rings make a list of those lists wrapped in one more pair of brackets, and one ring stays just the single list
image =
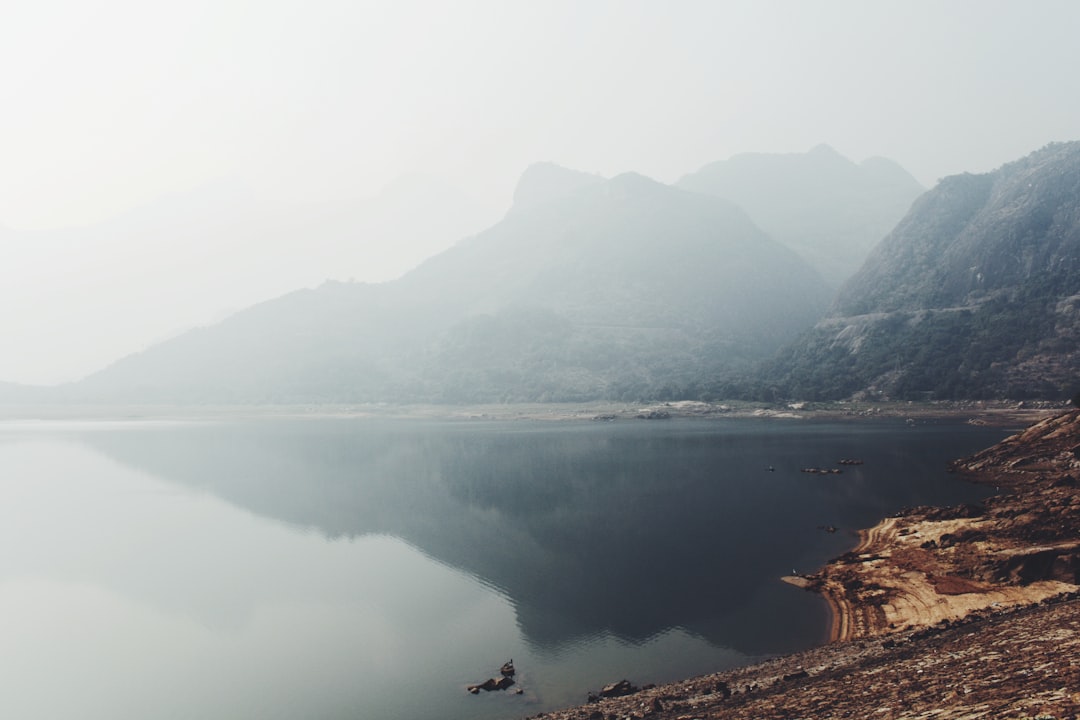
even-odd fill
[{"label": "entire brown rocky shore at right, layered bank plus stony foreground slope", "polygon": [[1080,718],[1080,411],[954,471],[1000,490],[864,531],[819,573],[834,642],[537,716]]}]

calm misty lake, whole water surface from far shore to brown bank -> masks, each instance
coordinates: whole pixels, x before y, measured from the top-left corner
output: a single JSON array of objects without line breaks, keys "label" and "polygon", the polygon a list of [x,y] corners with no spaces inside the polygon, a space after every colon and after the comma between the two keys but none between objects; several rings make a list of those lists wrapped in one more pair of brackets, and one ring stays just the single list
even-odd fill
[{"label": "calm misty lake, whole water surface from far shore to brown bank", "polygon": [[[779,578],[986,497],[945,464],[1007,434],[0,422],[0,716],[511,719],[805,649],[824,602]],[[510,658],[521,694],[465,692]]]}]

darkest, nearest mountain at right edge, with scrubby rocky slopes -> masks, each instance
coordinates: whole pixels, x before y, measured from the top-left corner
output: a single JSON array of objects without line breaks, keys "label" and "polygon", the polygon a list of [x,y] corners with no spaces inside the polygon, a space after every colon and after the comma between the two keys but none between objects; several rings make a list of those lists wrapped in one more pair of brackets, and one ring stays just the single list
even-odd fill
[{"label": "darkest, nearest mountain at right edge, with scrubby rocky slopes", "polygon": [[920,198],[766,372],[806,398],[1062,398],[1080,370],[1080,142]]}]

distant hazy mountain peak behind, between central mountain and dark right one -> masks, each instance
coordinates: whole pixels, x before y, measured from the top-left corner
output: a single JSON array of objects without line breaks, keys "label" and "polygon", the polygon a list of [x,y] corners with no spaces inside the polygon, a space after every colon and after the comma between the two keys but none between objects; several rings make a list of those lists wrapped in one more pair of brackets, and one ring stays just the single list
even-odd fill
[{"label": "distant hazy mountain peak behind, between central mountain and dark right one", "polygon": [[705,165],[677,186],[725,198],[839,287],[923,188],[891,160],[855,164],[831,147],[745,153]]}]

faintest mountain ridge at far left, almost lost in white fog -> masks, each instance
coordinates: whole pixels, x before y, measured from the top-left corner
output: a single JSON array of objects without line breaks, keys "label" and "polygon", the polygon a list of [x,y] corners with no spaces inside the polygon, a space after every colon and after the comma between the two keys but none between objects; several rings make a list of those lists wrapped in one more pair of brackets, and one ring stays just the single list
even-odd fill
[{"label": "faintest mountain ridge at far left, almost lost in white fog", "polygon": [[499,215],[418,175],[375,196],[318,205],[271,202],[222,180],[92,226],[0,230],[3,247],[16,248],[0,263],[5,305],[35,309],[4,317],[4,341],[36,349],[32,359],[0,354],[0,378],[82,378],[164,337],[327,276],[399,277]]}]

